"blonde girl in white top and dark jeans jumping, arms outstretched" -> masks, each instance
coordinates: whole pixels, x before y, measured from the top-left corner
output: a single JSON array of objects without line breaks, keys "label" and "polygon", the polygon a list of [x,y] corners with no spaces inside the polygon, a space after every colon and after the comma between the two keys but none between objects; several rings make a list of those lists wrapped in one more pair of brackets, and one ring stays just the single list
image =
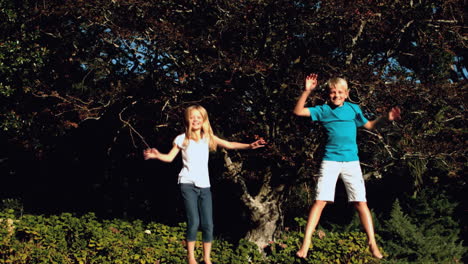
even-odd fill
[{"label": "blonde girl in white top and dark jeans jumping, arms outstretched", "polygon": [[144,158],[172,162],[182,150],[183,167],[179,173],[179,184],[187,213],[187,258],[189,264],[196,264],[195,241],[198,226],[201,225],[203,239],[203,259],[211,262],[211,243],[213,241],[213,216],[208,175],[209,150],[217,146],[226,149],[256,149],[263,147],[265,141],[257,140],[251,144],[230,142],[213,134],[205,108],[199,105],[185,110],[185,133],[174,139],[174,146],[168,154],[155,148],[146,149]]}]

